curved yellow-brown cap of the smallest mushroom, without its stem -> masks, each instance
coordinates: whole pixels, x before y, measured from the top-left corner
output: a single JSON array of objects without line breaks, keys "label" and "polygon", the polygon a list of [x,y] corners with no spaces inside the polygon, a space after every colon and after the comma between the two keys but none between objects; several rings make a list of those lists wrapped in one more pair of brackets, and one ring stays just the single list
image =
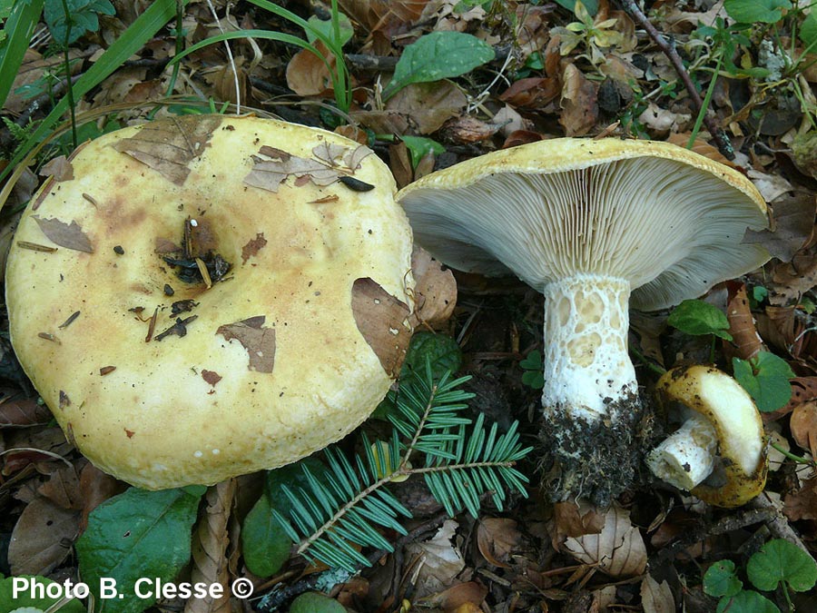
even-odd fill
[{"label": "curved yellow-brown cap of the smallest mushroom, without its stem", "polygon": [[768,462],[763,420],[752,397],[732,377],[708,366],[666,372],[655,387],[668,413],[683,405],[717,434],[716,469],[692,493],[718,507],[739,507],[763,491]]}]

